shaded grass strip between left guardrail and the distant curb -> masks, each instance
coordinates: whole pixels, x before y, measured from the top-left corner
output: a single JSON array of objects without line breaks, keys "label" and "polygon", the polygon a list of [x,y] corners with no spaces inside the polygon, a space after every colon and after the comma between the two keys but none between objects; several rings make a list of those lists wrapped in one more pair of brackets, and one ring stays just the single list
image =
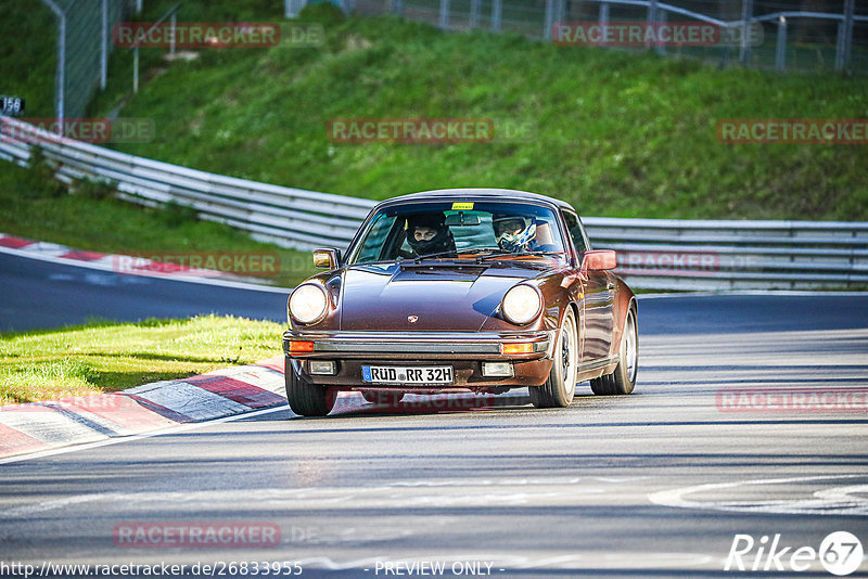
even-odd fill
[{"label": "shaded grass strip between left guardrail and the distant curb", "polygon": [[149,209],[88,195],[94,190],[99,194],[98,188],[79,185],[69,193],[46,172],[0,162],[0,232],[124,255],[273,252],[280,271],[261,280],[284,287],[316,271],[309,253],[256,242],[229,226],[196,220],[180,208]]}]

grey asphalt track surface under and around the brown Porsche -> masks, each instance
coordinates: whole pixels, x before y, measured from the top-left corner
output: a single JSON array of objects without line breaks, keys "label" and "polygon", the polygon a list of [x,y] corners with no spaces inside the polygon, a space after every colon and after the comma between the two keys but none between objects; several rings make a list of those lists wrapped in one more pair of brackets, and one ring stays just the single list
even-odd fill
[{"label": "grey asphalt track surface under and around the brown Porsche", "polygon": [[[5,293],[17,281],[0,263]],[[133,293],[117,297],[119,311],[124,299],[150,311],[145,301],[168,298]],[[868,551],[865,406],[725,403],[732,388],[868,389],[868,296],[644,298],[639,324],[630,396],[595,397],[582,383],[559,410],[509,395],[483,409],[371,407],[317,420],[279,408],[0,462],[0,571],[199,563],[252,577],[254,563],[265,576],[261,563],[298,562],[301,577],[832,577],[817,561],[803,572],[750,569],[764,536],[791,548],[778,559],[786,569],[795,549],[819,550],[833,531]],[[148,524],[252,525],[279,538],[178,546],[176,530],[124,543],[119,533]],[[737,533],[756,546],[742,556],[748,570],[732,561],[725,571]],[[231,562],[247,567],[232,574]],[[868,562],[850,575],[865,576]]]}]

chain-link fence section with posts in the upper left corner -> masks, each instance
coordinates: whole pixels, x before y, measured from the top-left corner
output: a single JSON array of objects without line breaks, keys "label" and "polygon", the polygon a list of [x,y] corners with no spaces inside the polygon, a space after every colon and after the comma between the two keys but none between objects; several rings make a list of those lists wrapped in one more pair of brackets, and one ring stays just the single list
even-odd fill
[{"label": "chain-link fence section with posts in the upper left corner", "polygon": [[93,93],[105,87],[112,27],[136,7],[137,0],[41,0],[41,7],[35,3],[35,10],[49,10],[55,17],[54,108],[59,120],[84,116]]}]

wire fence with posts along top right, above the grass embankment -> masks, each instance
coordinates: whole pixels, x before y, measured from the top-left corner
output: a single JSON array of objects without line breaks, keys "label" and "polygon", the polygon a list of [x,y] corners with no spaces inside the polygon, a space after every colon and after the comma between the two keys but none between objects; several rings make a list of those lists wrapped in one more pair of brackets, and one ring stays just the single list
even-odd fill
[{"label": "wire fence with posts along top right, above the grass embankment", "polygon": [[[299,0],[301,1],[301,0]],[[720,65],[743,64],[778,70],[868,73],[868,2],[855,0],[345,0],[359,14],[392,13],[449,30],[474,28],[521,34],[566,44],[658,53]],[[640,23],[654,37],[636,42],[595,41],[597,26],[610,33]],[[662,41],[655,33],[676,26],[716,27],[711,41]],[[572,33],[558,38],[559,24]],[[575,34],[587,31],[587,42]],[[641,33],[641,30],[640,30]]]}]

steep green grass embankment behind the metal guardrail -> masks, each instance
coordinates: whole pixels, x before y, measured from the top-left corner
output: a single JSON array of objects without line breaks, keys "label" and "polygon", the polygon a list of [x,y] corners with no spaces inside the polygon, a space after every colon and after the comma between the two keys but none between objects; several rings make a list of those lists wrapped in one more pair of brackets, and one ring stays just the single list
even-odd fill
[{"label": "steep green grass embankment behind the metal guardrail", "polygon": [[[865,118],[868,79],[718,70],[692,61],[350,20],[321,49],[209,50],[124,110],[157,138],[119,149],[257,181],[375,200],[506,186],[584,215],[868,219],[857,145],[727,145],[726,118]],[[108,107],[111,99],[101,106]],[[528,142],[337,144],[339,117],[529,121]]]}]

